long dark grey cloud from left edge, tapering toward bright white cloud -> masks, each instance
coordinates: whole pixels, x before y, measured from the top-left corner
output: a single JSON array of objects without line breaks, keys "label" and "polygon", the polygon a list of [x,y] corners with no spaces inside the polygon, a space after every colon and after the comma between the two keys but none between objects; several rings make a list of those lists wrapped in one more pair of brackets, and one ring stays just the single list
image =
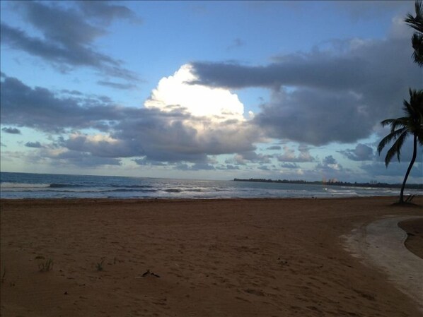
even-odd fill
[{"label": "long dark grey cloud from left edge, tapering toward bright white cloud", "polygon": [[12,77],[1,81],[0,91],[2,124],[28,126],[42,131],[90,128],[100,123],[112,126],[115,121],[139,112],[134,108],[118,107],[107,98],[58,97],[46,88],[30,88]]}]

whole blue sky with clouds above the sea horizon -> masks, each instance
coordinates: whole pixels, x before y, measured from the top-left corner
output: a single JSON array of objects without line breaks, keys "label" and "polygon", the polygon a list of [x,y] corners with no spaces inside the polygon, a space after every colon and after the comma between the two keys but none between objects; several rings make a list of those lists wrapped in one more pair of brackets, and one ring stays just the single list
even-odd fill
[{"label": "whole blue sky with clouds above the sea horizon", "polygon": [[402,182],[413,1],[0,6],[2,172]]}]

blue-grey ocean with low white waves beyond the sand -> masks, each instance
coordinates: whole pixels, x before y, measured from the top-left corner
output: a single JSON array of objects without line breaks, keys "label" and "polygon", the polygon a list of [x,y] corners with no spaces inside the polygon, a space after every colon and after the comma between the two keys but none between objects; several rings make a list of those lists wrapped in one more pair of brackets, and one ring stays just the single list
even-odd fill
[{"label": "blue-grey ocean with low white waves beyond the sand", "polygon": [[[0,173],[0,198],[331,198],[397,196],[399,189],[64,174]],[[422,191],[407,190],[407,194]]]}]

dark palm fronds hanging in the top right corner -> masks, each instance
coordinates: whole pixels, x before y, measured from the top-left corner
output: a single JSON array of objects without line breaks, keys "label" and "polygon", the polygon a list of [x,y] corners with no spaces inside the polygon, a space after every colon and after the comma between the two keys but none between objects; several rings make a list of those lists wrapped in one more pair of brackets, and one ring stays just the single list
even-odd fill
[{"label": "dark palm fronds hanging in the top right corner", "polygon": [[412,48],[415,49],[412,56],[419,66],[423,66],[423,2],[421,0],[415,2],[415,11],[416,16],[408,13],[404,21],[417,31],[411,37]]}]

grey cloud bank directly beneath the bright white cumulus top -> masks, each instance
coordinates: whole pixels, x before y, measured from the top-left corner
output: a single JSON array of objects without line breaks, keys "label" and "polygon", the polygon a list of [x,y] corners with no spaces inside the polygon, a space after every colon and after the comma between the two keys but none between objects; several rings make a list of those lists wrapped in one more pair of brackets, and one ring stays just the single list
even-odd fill
[{"label": "grey cloud bank directly beneath the bright white cumulus top", "polygon": [[142,150],[148,160],[164,162],[206,162],[207,155],[254,150],[253,142],[257,140],[257,132],[246,122],[216,124],[207,117],[190,116],[182,109],[144,109],[141,116],[122,120],[113,136]]}]

